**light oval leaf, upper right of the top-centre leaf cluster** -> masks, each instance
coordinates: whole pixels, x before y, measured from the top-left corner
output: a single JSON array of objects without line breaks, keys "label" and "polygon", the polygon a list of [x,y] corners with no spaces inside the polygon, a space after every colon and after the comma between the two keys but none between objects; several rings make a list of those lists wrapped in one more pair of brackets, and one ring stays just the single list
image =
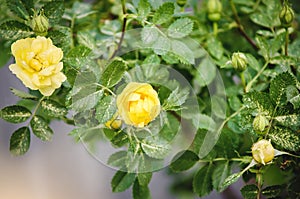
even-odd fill
[{"label": "light oval leaf, upper right of the top-centre leaf cluster", "polygon": [[177,19],[168,28],[168,35],[173,38],[182,38],[193,30],[194,22],[189,18]]}]

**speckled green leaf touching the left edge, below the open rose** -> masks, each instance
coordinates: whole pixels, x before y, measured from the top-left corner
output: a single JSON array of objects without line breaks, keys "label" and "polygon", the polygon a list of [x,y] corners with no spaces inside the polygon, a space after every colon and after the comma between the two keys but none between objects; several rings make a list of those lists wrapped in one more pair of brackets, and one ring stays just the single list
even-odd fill
[{"label": "speckled green leaf touching the left edge, below the open rose", "polygon": [[7,106],[0,110],[0,118],[11,123],[25,122],[30,116],[30,110],[23,106]]}]

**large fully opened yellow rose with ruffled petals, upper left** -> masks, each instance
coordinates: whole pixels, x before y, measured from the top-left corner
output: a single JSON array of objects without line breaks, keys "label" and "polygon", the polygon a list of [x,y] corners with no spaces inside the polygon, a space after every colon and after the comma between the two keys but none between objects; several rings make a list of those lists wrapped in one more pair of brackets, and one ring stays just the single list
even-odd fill
[{"label": "large fully opened yellow rose with ruffled petals, upper left", "polygon": [[63,69],[63,52],[45,37],[20,39],[12,44],[16,63],[9,69],[32,89],[50,96],[66,80]]}]

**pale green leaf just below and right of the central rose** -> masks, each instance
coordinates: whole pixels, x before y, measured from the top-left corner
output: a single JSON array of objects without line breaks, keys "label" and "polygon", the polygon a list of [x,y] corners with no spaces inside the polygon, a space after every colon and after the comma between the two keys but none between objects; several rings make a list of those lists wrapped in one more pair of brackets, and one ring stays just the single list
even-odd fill
[{"label": "pale green leaf just below and right of the central rose", "polygon": [[165,158],[170,152],[169,143],[158,138],[147,138],[143,140],[141,147],[149,157],[157,159]]}]

